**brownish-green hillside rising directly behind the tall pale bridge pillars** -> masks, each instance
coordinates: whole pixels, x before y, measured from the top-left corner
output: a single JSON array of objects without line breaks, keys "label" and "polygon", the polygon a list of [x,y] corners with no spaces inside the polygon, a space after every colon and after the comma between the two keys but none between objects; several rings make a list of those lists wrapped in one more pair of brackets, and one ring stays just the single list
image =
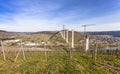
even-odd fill
[{"label": "brownish-green hillside rising directly behind the tall pale bridge pillars", "polygon": [[[62,38],[59,31],[42,31],[35,32],[32,34],[27,34],[20,36],[18,38],[22,38],[24,41],[32,41],[32,42],[41,42],[41,41],[49,41],[53,44],[56,43],[65,43],[65,40]],[[79,43],[79,41],[83,38],[83,36],[75,31],[75,43]],[[69,31],[69,42],[71,41],[71,31]]]}]

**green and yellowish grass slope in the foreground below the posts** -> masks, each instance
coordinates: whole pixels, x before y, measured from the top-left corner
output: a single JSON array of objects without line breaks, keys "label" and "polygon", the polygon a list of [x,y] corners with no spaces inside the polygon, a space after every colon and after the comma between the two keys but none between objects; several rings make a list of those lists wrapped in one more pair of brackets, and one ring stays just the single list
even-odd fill
[{"label": "green and yellowish grass slope in the foreground below the posts", "polygon": [[107,55],[98,55],[95,61],[89,53],[72,52],[72,59],[70,59],[67,52],[47,52],[46,61],[44,52],[27,52],[26,60],[23,60],[20,54],[16,62],[12,54],[7,55],[7,61],[3,61],[3,57],[0,57],[0,74],[112,74],[120,72],[106,67],[108,65],[113,69],[114,67],[120,69],[120,59],[115,56],[111,58]]}]

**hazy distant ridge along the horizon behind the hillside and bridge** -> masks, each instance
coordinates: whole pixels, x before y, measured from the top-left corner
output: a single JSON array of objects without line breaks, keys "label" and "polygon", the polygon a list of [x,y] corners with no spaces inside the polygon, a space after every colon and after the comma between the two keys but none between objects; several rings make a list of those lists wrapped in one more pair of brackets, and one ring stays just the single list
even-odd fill
[{"label": "hazy distant ridge along the horizon behind the hillside and bridge", "polygon": [[[55,34],[58,31],[38,31],[38,32],[9,32],[5,30],[0,30],[0,39],[11,38],[15,36],[25,35],[25,34]],[[82,32],[76,32],[76,35],[83,34]],[[120,31],[94,31],[87,32],[89,35],[112,35],[113,37],[120,37]]]}]

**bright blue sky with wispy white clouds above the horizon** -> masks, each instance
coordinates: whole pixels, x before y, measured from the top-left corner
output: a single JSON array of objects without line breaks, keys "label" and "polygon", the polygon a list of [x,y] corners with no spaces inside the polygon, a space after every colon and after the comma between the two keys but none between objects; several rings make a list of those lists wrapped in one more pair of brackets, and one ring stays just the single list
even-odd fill
[{"label": "bright blue sky with wispy white clouds above the horizon", "polygon": [[0,30],[120,30],[120,0],[0,0]]}]

